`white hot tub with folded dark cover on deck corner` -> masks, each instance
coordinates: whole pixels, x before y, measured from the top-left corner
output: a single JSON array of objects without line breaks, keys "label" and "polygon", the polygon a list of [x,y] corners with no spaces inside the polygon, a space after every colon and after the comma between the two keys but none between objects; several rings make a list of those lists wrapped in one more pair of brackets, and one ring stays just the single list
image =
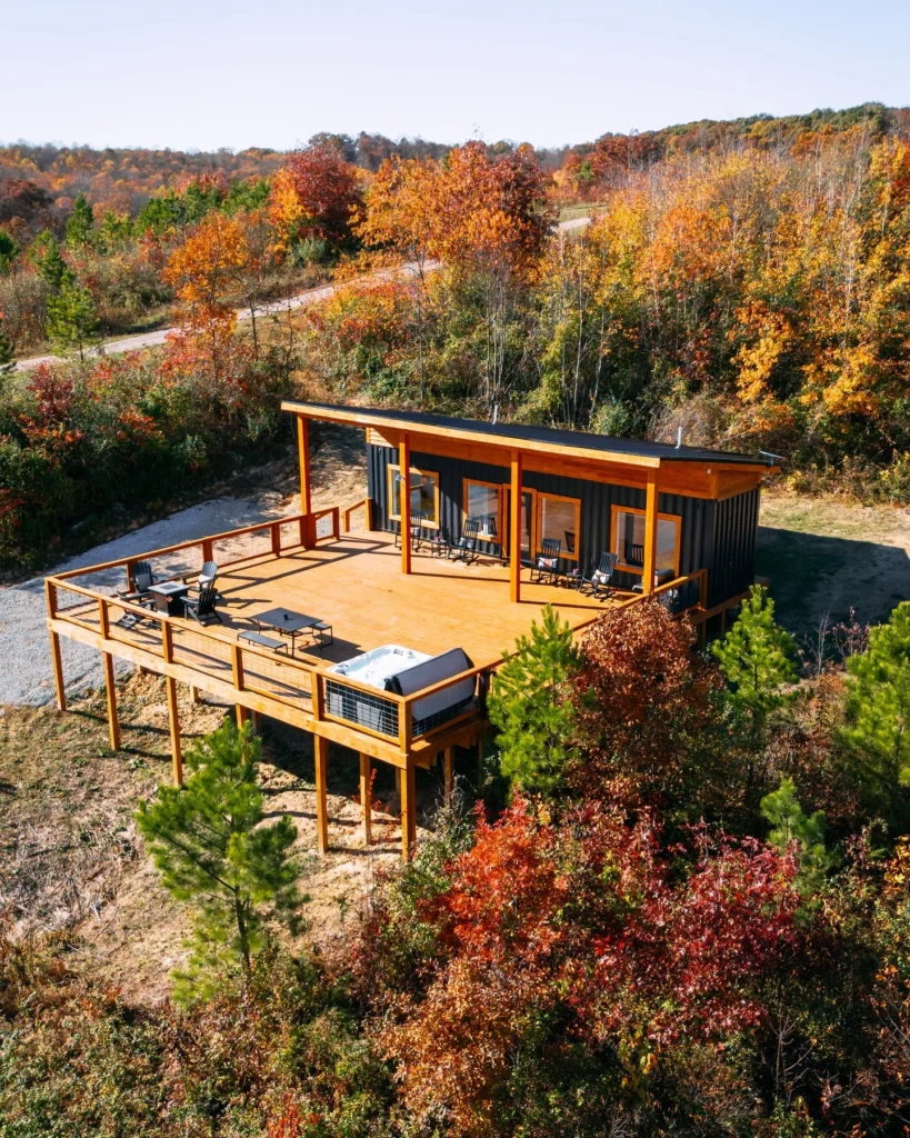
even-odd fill
[{"label": "white hot tub with folded dark cover on deck corner", "polygon": [[[398,735],[398,703],[383,699],[383,692],[411,695],[472,667],[464,649],[453,648],[439,655],[427,655],[400,644],[383,644],[351,660],[326,668],[329,676],[347,677],[377,688],[371,695],[344,683],[326,681],[326,710],[338,719],[357,723],[382,735]],[[413,704],[412,731],[415,735],[458,715],[474,698],[473,676],[452,684]]]}]

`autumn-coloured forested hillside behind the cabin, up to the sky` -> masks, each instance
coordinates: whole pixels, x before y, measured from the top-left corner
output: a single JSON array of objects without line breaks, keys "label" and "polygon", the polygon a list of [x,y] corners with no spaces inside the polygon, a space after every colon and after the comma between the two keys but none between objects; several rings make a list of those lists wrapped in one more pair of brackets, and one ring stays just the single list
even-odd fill
[{"label": "autumn-coloured forested hillside behind the cabin, up to the sky", "polygon": [[[8,148],[3,162],[0,368],[48,341],[69,361],[3,382],[8,563],[273,451],[295,389],[681,429],[783,455],[799,488],[910,500],[905,112],[544,154],[362,134],[289,155]],[[593,223],[556,232],[566,206]],[[263,316],[330,278],[324,303]],[[96,360],[105,333],[168,320],[180,333],[163,349]]]}]

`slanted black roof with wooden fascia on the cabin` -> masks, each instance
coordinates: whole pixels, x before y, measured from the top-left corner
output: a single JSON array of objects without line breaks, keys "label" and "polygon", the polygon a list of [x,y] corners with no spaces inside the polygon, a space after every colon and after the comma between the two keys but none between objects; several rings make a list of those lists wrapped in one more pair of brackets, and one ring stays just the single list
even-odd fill
[{"label": "slanted black roof with wooden fascia on the cabin", "polygon": [[698,446],[673,446],[671,443],[648,443],[636,438],[613,438],[610,435],[587,434],[579,430],[561,430],[555,427],[526,427],[523,423],[486,422],[480,419],[456,419],[452,415],[431,415],[422,411],[395,411],[388,407],[357,407],[334,405],[330,403],[299,403],[289,401],[288,410],[299,407],[323,411],[331,414],[357,414],[375,420],[413,423],[415,427],[445,430],[473,431],[479,435],[513,438],[524,443],[546,443],[551,446],[563,446],[574,450],[602,451],[604,454],[637,455],[643,459],[672,459],[675,462],[731,462],[741,464],[760,464],[774,467],[774,459],[756,454],[739,454],[735,451],[709,451]]}]

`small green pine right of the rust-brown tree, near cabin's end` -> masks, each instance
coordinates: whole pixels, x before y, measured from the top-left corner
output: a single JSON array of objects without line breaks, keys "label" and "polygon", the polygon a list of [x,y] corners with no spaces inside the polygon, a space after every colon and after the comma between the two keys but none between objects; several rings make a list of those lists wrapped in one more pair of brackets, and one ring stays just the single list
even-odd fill
[{"label": "small green pine right of the rust-brown tree, near cabin's end", "polygon": [[789,633],[775,622],[775,602],[760,585],[752,586],[733,628],[712,645],[731,685],[730,702],[751,717],[755,732],[785,702],[781,686],[796,678],[794,648]]}]

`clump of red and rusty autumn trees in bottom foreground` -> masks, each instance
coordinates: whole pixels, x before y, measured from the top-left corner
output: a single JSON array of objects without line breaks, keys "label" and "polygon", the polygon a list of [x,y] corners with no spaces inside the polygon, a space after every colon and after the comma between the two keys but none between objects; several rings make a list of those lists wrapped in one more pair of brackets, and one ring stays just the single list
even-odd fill
[{"label": "clump of red and rusty autumn trees in bottom foreground", "polygon": [[420,913],[442,946],[436,973],[384,1034],[410,1110],[512,1132],[519,1056],[527,1072],[573,1040],[640,1075],[686,1033],[717,1045],[767,1021],[766,980],[804,947],[795,859],[700,834],[686,875],[657,836],[650,817],[597,806],[561,826],[523,802],[479,822]]}]

